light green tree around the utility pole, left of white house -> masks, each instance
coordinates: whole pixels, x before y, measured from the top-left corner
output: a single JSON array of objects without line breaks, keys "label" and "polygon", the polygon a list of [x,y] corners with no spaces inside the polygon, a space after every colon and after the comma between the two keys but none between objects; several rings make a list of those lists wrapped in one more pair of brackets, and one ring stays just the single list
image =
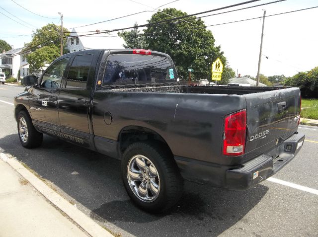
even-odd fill
[{"label": "light green tree around the utility pole, left of white house", "polygon": [[[64,36],[69,36],[68,29],[63,28]],[[41,29],[33,32],[33,38],[30,43],[24,45],[22,52],[27,53],[27,61],[31,74],[41,72],[46,64],[52,63],[60,56],[60,36],[61,26],[56,24],[47,24]],[[66,45],[66,38],[63,45]],[[66,50],[64,49],[64,53]]]}]

